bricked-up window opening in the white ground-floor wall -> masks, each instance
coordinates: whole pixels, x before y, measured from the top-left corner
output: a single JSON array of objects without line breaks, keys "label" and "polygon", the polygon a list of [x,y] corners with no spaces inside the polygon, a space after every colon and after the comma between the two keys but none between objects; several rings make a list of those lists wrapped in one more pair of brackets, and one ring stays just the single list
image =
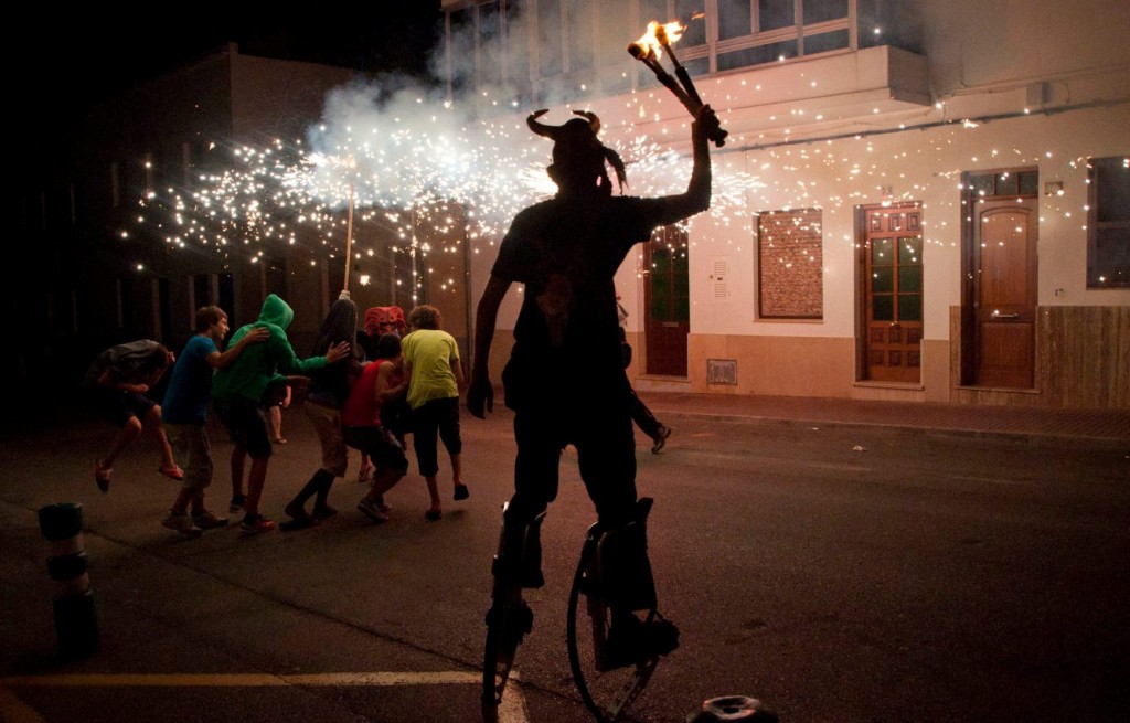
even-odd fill
[{"label": "bricked-up window opening in the white ground-floor wall", "polygon": [[818,208],[757,217],[758,317],[824,317],[822,219]]}]

